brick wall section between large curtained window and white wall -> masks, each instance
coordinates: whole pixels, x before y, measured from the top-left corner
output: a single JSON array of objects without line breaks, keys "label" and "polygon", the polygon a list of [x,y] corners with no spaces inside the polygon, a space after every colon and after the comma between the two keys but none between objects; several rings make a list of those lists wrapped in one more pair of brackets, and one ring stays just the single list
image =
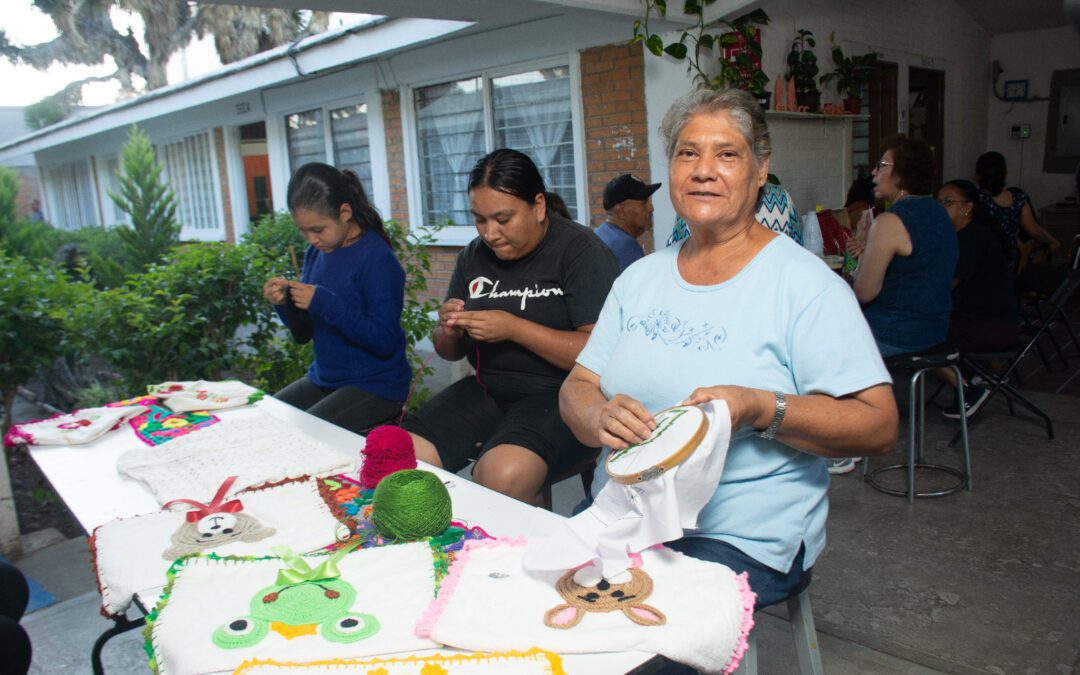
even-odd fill
[{"label": "brick wall section between large curtained window and white wall", "polygon": [[[604,186],[619,174],[649,174],[642,44],[606,44],[581,52],[581,103],[591,227],[604,221]],[[646,253],[652,238],[642,239]]]}]

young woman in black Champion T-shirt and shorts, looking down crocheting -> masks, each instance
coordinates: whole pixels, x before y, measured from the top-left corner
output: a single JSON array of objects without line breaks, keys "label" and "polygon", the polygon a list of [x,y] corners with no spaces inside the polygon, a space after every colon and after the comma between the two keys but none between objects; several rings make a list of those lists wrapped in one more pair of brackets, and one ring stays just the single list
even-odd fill
[{"label": "young woman in black Champion T-shirt and shorts, looking down crocheting", "polygon": [[463,356],[458,380],[408,417],[417,459],[539,504],[549,475],[595,455],[558,416],[558,388],[596,323],[619,262],[586,227],[548,210],[527,156],[501,149],[469,176],[480,237],[458,255],[438,325],[443,359]]}]

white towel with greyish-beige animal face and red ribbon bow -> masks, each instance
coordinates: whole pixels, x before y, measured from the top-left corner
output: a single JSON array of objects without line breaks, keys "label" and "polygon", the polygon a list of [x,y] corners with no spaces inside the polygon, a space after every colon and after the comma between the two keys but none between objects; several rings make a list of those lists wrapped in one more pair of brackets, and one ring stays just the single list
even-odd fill
[{"label": "white towel with greyish-beige animal face and red ribbon bow", "polygon": [[[211,503],[214,495],[193,497]],[[200,512],[174,507],[177,510],[117,518],[97,527],[91,550],[102,613],[116,617],[127,609],[135,593],[165,585],[165,572],[181,555],[270,555],[276,545],[308,553],[335,542],[338,521],[314,478],[232,494],[228,499],[226,509],[206,509],[194,521],[188,514]],[[228,508],[233,500],[240,502],[239,509]]]}]

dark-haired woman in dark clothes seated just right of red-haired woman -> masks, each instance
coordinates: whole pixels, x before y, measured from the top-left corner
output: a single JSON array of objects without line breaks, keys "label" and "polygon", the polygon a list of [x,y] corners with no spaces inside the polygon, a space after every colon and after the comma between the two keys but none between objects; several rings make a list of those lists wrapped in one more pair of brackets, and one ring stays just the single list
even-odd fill
[{"label": "dark-haired woman in dark clothes seated just right of red-haired woman", "polygon": [[[953,274],[953,316],[948,341],[960,351],[994,352],[1010,349],[1020,339],[1020,302],[1013,285],[1004,233],[987,225],[978,188],[970,180],[950,180],[937,191],[956,230],[960,256]],[[940,372],[954,388],[956,373]],[[989,390],[963,383],[967,416],[975,414]],[[945,416],[959,419],[959,403]]]}]

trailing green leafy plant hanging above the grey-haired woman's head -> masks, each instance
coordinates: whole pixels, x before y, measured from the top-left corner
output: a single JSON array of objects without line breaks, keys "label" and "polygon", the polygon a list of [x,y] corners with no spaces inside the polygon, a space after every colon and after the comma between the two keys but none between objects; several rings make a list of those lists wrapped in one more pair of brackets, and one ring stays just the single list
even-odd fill
[{"label": "trailing green leafy plant hanging above the grey-haired woman's head", "polygon": [[[656,9],[660,16],[665,16],[667,3],[665,0],[645,0],[645,18],[634,22],[634,42],[643,41],[646,49],[657,56],[667,54],[679,60],[686,59],[687,69],[693,72],[693,81],[699,86],[710,89],[737,87],[754,94],[762,107],[768,107],[769,96],[766,85],[769,76],[758,67],[761,62],[761,42],[758,39],[760,26],[769,23],[765,10],[754,10],[731,21],[720,19],[705,24],[705,8],[716,0],[685,0],[683,12],[698,18],[698,25],[684,31],[679,39],[664,44],[663,38],[649,32],[649,16]],[[745,45],[733,60],[724,57],[724,48]],[[713,52],[717,59],[718,72],[713,75],[708,68],[708,55],[703,59],[702,52]]]}]

